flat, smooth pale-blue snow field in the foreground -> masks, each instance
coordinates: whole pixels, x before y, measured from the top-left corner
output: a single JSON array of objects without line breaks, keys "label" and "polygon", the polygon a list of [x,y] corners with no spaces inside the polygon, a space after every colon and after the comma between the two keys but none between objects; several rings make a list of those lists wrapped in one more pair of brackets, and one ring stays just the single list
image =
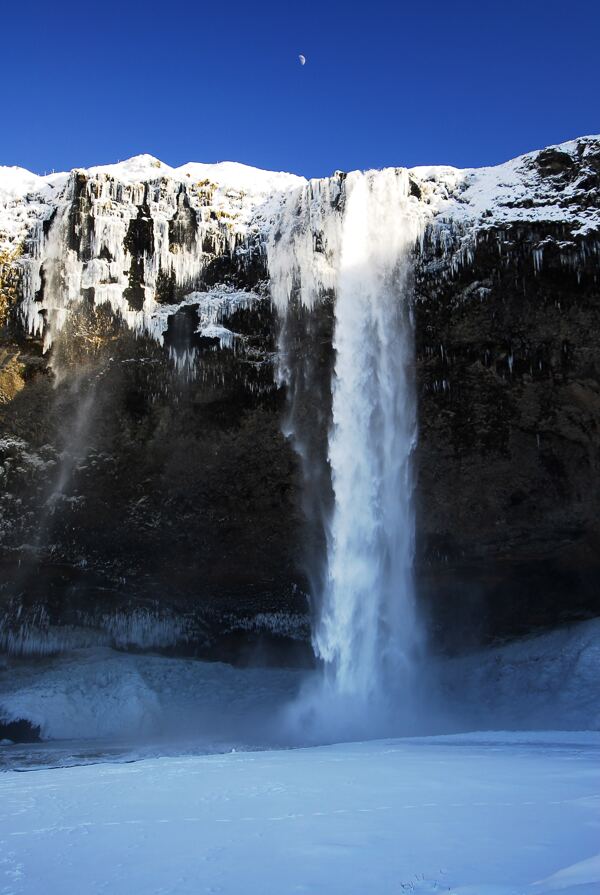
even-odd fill
[{"label": "flat, smooth pale-blue snow field in the foreground", "polygon": [[598,735],[389,740],[0,776],[3,895],[598,891]]}]

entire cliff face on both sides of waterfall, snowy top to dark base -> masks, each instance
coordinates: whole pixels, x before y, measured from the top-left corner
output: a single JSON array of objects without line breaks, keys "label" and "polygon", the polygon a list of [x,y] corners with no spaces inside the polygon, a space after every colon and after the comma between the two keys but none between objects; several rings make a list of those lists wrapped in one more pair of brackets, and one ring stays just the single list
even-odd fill
[{"label": "entire cliff face on both sides of waterfall, snowy top to dark base", "polygon": [[[410,179],[432,630],[598,612],[600,141]],[[334,297],[280,333],[265,254],[302,188],[149,157],[2,170],[0,647],[306,639],[319,533],[282,420],[293,397],[326,504]]]}]

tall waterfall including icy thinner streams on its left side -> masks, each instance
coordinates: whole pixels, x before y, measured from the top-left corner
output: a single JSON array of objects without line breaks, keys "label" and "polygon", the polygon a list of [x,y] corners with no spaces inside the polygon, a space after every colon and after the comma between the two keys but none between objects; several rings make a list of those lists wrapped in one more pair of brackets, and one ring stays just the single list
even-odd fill
[{"label": "tall waterfall including icy thinner streams on its left side", "polygon": [[[321,582],[312,594],[313,645],[324,666],[321,697],[339,698],[356,721],[375,703],[406,702],[420,646],[412,254],[426,216],[406,170],[355,172],[290,196],[268,246],[284,335],[295,308],[314,314],[328,291],[335,296],[332,500],[322,520],[324,568],[313,579]],[[294,362],[305,365],[303,354],[317,346],[302,348],[291,352],[285,338],[281,345],[281,376],[296,387]],[[309,483],[306,464],[314,456],[303,449],[306,429],[292,408],[289,430]]]}]

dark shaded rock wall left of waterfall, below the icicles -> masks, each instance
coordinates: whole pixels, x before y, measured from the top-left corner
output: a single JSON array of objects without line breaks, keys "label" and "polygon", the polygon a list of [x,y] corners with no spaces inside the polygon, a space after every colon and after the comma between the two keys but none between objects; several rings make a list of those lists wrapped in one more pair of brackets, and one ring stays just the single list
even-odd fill
[{"label": "dark shaded rock wall left of waterfall, below the icicles", "polygon": [[218,656],[226,615],[223,649],[243,658],[265,636],[275,648],[278,635],[268,626],[236,635],[236,617],[306,615],[297,462],[280,428],[285,396],[269,360],[270,303],[237,312],[245,341],[236,352],[194,336],[197,318],[185,325],[191,312],[171,318],[166,340],[201,352],[191,379],[155,343],[117,321],[111,329],[106,306],[82,306],[85,319],[74,318],[53,348],[72,365],[59,385],[21,354],[29,384],[0,405],[13,442],[0,450],[0,619],[15,600],[23,618],[43,609],[50,625],[150,601],[189,621],[179,649],[191,654]]}]

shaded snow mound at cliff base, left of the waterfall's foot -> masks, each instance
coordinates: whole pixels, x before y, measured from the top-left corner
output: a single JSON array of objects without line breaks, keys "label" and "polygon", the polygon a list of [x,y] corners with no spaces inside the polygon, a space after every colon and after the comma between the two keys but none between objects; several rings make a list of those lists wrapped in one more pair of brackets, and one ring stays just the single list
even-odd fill
[{"label": "shaded snow mound at cliff base, left of the waterfall's foot", "polygon": [[260,740],[262,721],[293,697],[299,674],[108,648],[76,650],[0,668],[0,721],[29,721],[45,740]]}]

